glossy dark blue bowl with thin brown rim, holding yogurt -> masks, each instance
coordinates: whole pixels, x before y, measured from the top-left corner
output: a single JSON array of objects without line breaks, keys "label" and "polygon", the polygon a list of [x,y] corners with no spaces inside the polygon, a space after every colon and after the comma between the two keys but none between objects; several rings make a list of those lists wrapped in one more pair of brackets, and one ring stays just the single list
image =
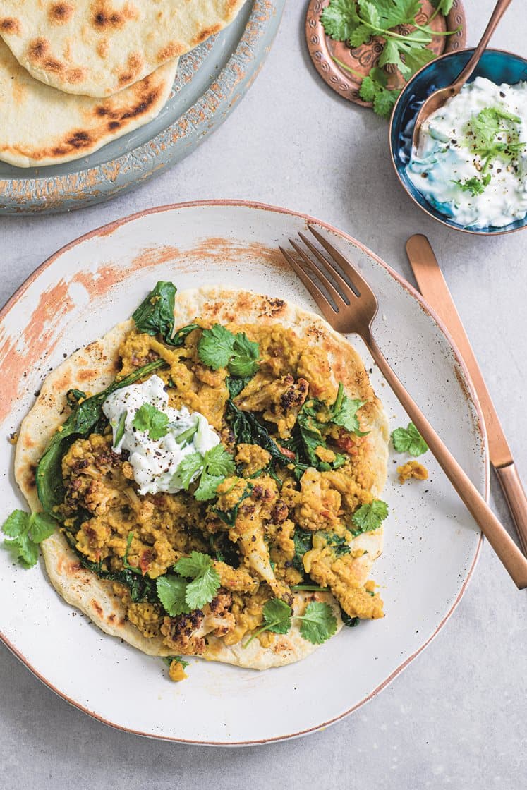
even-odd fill
[{"label": "glossy dark blue bowl with thin brown rim, holding yogurt", "polygon": [[[442,222],[449,228],[480,235],[512,233],[525,228],[527,216],[523,220],[511,222],[510,225],[506,225],[504,228],[495,228],[493,225],[487,225],[485,228],[465,228],[439,212],[438,209],[435,209],[416,190],[416,187],[413,186],[405,173],[405,166],[408,164],[412,151],[413,126],[421,104],[435,90],[451,85],[465,66],[465,63],[469,61],[472,52],[473,49],[466,49],[441,55],[439,58],[427,63],[426,66],[423,66],[408,82],[408,85],[405,86],[395,107],[393,107],[390,121],[390,152],[393,167],[395,167],[401,184],[405,187],[412,200],[429,216],[433,216],[435,220],[439,220],[439,222]],[[508,85],[515,85],[517,82],[527,80],[527,60],[519,55],[512,55],[510,52],[487,49],[470,81],[476,77],[487,77],[487,79],[497,83],[497,85],[501,85],[503,82],[506,82]]]}]

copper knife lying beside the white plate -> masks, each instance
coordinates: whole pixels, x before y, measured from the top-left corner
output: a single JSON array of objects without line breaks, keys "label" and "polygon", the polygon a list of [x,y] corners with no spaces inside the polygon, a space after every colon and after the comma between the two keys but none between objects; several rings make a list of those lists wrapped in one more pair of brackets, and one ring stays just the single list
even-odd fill
[{"label": "copper knife lying beside the white plate", "polygon": [[434,250],[425,235],[416,233],[406,243],[406,254],[412,266],[420,292],[427,303],[439,315],[457,345],[465,365],[469,369],[472,384],[480,400],[481,410],[487,427],[488,450],[491,465],[494,467],[503,489],[510,514],[518,532],[521,548],[527,555],[527,496],[514,466],[514,459],[506,440],[503,428],[496,414],[487,385],[472,351],[469,338],[457,313],[454,300],[450,295],[445,278],[435,258]]}]

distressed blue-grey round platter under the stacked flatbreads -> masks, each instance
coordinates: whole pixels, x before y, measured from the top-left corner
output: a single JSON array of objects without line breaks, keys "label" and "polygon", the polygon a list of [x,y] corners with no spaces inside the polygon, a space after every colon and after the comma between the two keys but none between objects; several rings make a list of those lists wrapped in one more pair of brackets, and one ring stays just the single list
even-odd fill
[{"label": "distressed blue-grey round platter under the stacked flatbreads", "polygon": [[0,162],[0,214],[80,209],[134,189],[187,156],[231,113],[276,35],[285,0],[247,0],[238,17],[179,61],[156,119],[91,156],[50,167]]}]

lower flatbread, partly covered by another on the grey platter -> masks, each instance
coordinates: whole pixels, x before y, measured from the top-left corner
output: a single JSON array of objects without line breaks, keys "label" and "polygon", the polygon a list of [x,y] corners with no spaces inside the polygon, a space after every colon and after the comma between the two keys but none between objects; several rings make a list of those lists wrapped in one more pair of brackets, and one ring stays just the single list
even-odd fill
[{"label": "lower flatbread, partly covered by another on the grey platter", "polygon": [[0,160],[38,167],[87,156],[155,118],[177,67],[172,60],[108,99],[69,96],[34,79],[0,40]]}]

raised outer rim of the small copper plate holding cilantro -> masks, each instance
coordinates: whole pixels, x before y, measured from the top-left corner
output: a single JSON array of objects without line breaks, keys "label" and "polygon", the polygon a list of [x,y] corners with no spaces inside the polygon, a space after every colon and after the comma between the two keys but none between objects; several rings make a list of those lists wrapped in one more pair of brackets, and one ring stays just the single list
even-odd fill
[{"label": "raised outer rim of the small copper plate holding cilantro", "polygon": [[[320,21],[320,13],[326,5],[327,0],[310,0],[307,6],[305,25],[306,43],[307,51],[309,52],[314,68],[318,71],[322,80],[326,82],[326,85],[337,92],[339,96],[342,96],[343,99],[359,104],[360,107],[373,107],[371,101],[364,101],[360,98],[357,82],[353,80],[351,75],[348,77],[348,75],[333,62],[333,58],[329,55],[326,43],[326,33]],[[465,8],[461,0],[454,0],[454,6],[446,15],[446,20],[448,29],[455,30],[460,24],[462,27],[459,32],[447,38],[445,51],[442,52],[442,55],[449,55],[450,52],[459,52],[465,47],[467,21]],[[451,25],[455,25],[455,27],[451,27]],[[442,57],[442,55],[438,57]]]}]

